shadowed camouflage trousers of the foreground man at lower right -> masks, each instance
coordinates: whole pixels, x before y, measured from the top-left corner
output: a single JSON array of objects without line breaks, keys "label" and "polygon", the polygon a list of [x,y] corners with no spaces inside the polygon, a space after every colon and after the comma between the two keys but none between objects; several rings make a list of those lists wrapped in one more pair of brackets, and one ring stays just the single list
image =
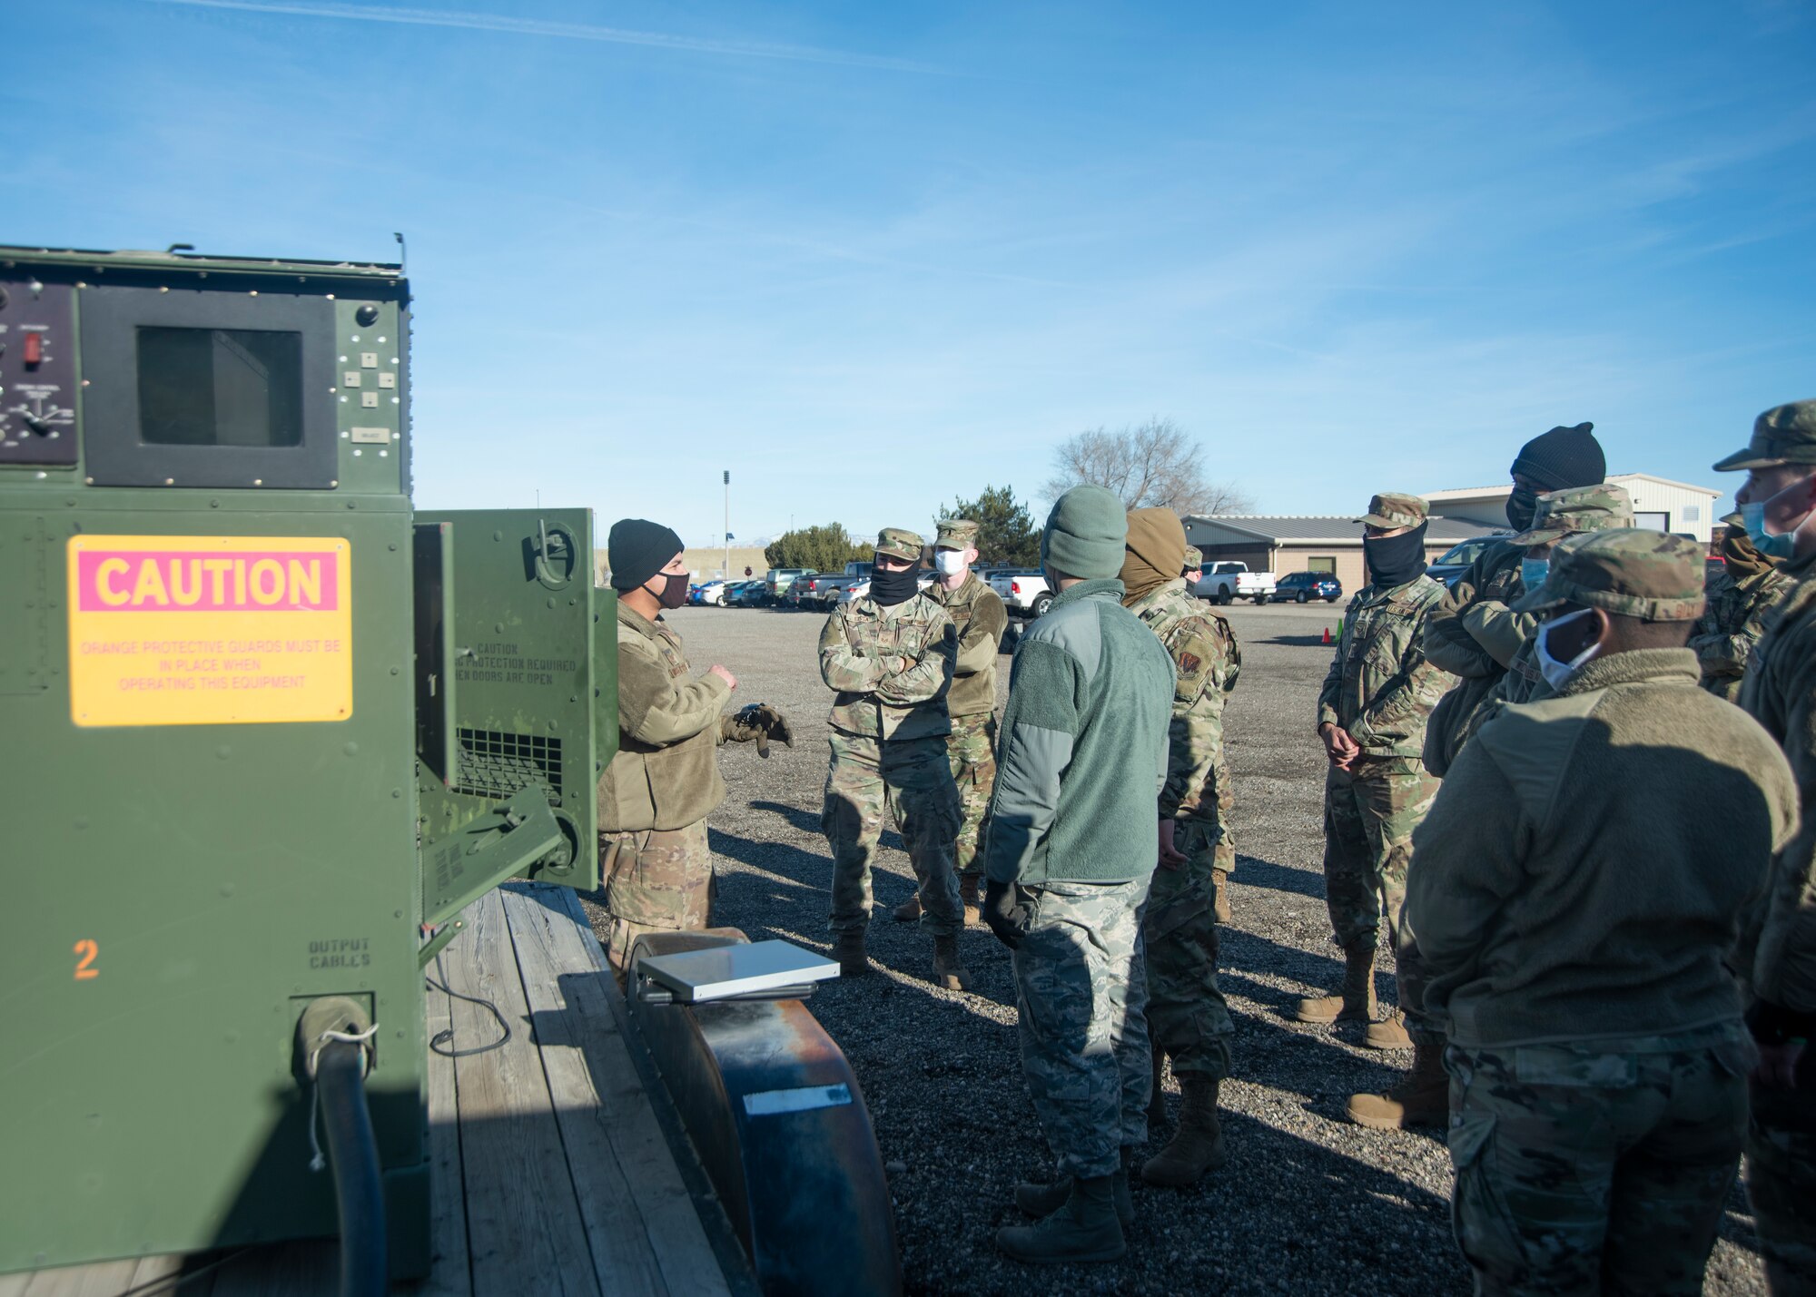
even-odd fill
[{"label": "shadowed camouflage trousers of the foreground man at lower right", "polygon": [[1451,1046],[1451,1223],[1478,1293],[1700,1293],[1752,1041]]}]

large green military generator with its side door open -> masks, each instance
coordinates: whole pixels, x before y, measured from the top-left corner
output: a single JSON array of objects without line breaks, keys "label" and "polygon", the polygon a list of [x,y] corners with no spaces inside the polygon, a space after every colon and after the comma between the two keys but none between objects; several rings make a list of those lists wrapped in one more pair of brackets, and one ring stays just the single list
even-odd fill
[{"label": "large green military generator with its side door open", "polygon": [[0,1272],[336,1233],[340,1043],[423,1273],[423,965],[597,885],[592,520],[412,509],[409,327],[396,265],[0,247]]}]

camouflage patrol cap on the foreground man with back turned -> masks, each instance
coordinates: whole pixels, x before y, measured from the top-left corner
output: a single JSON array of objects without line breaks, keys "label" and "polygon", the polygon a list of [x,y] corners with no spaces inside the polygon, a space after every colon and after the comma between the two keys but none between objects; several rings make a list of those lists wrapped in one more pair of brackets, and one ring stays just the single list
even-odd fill
[{"label": "camouflage patrol cap on the foreground man with back turned", "polygon": [[1545,583],[1515,612],[1582,603],[1640,621],[1689,621],[1703,614],[1703,547],[1634,527],[1573,536],[1551,556]]}]

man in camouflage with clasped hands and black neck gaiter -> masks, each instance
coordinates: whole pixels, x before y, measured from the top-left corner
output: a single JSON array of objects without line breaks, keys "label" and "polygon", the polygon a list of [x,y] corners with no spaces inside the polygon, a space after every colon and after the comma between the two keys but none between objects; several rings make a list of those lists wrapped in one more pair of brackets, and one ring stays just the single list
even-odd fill
[{"label": "man in camouflage with clasped hands and black neck gaiter", "polygon": [[[1413,830],[1426,817],[1438,781],[1420,752],[1426,718],[1449,685],[1420,648],[1426,618],[1444,587],[1426,576],[1426,501],[1384,492],[1358,518],[1369,585],[1349,599],[1331,670],[1318,692],[1318,738],[1329,756],[1324,781],[1324,890],[1337,945],[1344,950],[1344,983],[1329,995],[1298,1003],[1302,1023],[1369,1023],[1367,1043],[1382,1048],[1418,1043],[1398,1021],[1375,1025],[1375,955],[1382,916],[1389,946],[1411,959],[1402,943],[1400,905],[1413,861]],[[1391,549],[1389,549],[1391,547]],[[1416,1019],[1409,1023],[1418,1030]],[[1415,1083],[1442,1088],[1440,1045],[1426,1034]],[[1395,1092],[1398,1094],[1398,1092]],[[1373,1099],[1373,1095],[1357,1095]],[[1351,1117],[1367,1114],[1351,1101]],[[1389,1114],[1369,1124],[1400,1124]]]}]

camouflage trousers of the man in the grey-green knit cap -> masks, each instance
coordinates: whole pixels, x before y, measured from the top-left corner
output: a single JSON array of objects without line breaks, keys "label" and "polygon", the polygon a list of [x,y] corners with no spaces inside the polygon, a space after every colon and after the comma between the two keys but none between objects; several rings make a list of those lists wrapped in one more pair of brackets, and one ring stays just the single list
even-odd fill
[{"label": "camouflage trousers of the man in the grey-green knit cap", "polygon": [[1012,959],[1022,1075],[1059,1175],[1111,1175],[1148,1143],[1153,1063],[1142,1008],[1148,879],[1021,888]]}]

